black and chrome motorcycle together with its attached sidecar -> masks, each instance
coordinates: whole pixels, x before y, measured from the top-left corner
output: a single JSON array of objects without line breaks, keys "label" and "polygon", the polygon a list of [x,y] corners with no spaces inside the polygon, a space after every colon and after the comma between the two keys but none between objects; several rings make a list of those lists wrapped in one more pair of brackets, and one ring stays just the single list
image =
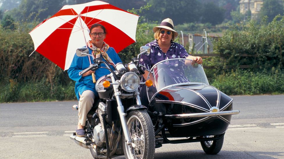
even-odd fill
[{"label": "black and chrome motorcycle together with its attached sidecar", "polygon": [[[207,154],[219,153],[231,116],[239,114],[232,110],[232,98],[210,86],[202,65],[188,59],[160,61],[147,70],[154,80],[140,82],[145,72],[138,59],[149,53],[150,47],[142,46],[137,58],[116,64],[115,71],[100,58],[94,59],[79,73],[100,68],[111,72],[96,82],[100,99],[88,112],[86,136],[73,133],[70,138],[90,149],[93,158],[151,159],[155,148],[163,144],[187,142],[200,142]],[[86,48],[77,49],[76,54],[92,56]],[[143,84],[147,85],[147,107],[141,105],[138,89]],[[161,104],[162,111],[156,110]]]}]

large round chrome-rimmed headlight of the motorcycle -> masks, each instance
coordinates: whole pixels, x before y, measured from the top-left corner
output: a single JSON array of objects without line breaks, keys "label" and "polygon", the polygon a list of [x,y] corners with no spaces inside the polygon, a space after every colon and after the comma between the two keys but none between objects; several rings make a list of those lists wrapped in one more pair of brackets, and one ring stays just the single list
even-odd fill
[{"label": "large round chrome-rimmed headlight of the motorcycle", "polygon": [[139,77],[133,72],[127,72],[121,76],[120,86],[127,92],[134,92],[139,87]]}]

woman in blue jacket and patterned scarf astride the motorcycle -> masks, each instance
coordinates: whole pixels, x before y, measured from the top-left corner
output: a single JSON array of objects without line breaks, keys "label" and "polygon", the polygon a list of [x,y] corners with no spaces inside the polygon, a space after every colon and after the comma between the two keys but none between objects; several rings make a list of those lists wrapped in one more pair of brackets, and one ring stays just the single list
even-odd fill
[{"label": "woman in blue jacket and patterned scarf astride the motorcycle", "polygon": [[[115,70],[115,64],[122,61],[113,47],[109,47],[109,45],[104,42],[106,34],[107,32],[103,25],[98,23],[92,25],[89,33],[91,40],[88,41],[87,44],[89,52],[92,53],[95,58],[102,56],[102,60],[109,63],[111,69]],[[82,76],[79,76],[79,72],[88,68],[92,60],[93,59],[90,59],[90,56],[79,57],[75,54],[68,70],[69,77],[76,81],[75,93],[79,100],[79,122],[76,129],[76,135],[79,137],[85,136],[84,126],[86,125],[87,113],[92,108],[95,98],[98,98],[97,91],[95,90],[95,83],[93,83],[92,79],[92,73],[95,74],[96,80],[101,76],[110,73],[109,70],[101,68],[96,71],[89,70]],[[102,64],[101,67],[105,67],[105,65]]]}]

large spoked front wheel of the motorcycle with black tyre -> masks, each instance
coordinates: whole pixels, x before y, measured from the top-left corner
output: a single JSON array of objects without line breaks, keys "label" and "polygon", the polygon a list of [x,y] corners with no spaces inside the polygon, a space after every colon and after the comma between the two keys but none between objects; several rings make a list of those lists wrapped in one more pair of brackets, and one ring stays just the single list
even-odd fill
[{"label": "large spoked front wheel of the motorcycle with black tyre", "polygon": [[[149,114],[145,110],[134,110],[126,118],[131,145],[123,144],[126,159],[153,159],[155,134]],[[123,141],[125,136],[123,135]]]}]

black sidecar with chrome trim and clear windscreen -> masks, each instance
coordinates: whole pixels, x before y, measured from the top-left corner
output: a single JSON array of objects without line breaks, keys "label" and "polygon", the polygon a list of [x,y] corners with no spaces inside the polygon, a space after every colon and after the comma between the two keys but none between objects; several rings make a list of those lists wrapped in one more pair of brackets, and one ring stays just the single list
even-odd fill
[{"label": "black sidecar with chrome trim and clear windscreen", "polygon": [[[201,142],[205,153],[218,153],[232,115],[239,114],[233,110],[233,99],[210,86],[203,66],[188,59],[161,61],[150,72],[155,87],[147,89],[148,111],[156,147]],[[164,107],[159,111],[156,106],[161,104]],[[169,139],[173,137],[178,139]]]}]

